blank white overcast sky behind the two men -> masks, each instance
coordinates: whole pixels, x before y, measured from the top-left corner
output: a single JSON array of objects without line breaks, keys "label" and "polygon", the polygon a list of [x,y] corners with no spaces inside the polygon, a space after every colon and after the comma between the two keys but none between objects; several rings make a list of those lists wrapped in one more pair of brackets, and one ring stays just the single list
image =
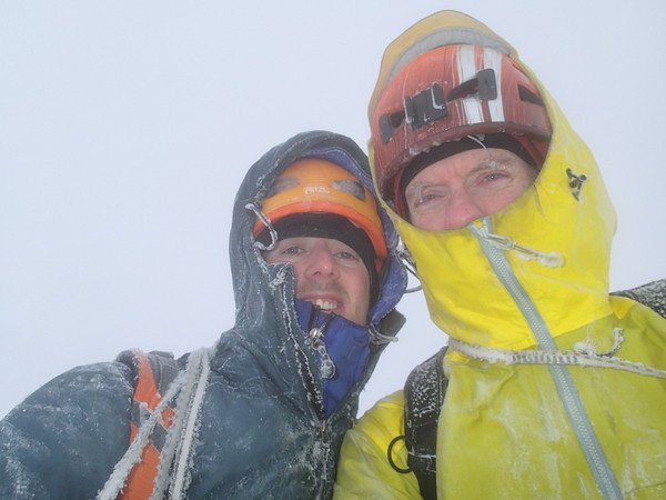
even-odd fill
[{"label": "blank white overcast sky behind the two men", "polygon": [[[180,356],[234,321],[228,238],[246,168],[292,134],[365,149],[386,44],[451,8],[512,42],[601,163],[612,288],[666,277],[666,2],[0,3],[0,417],[121,350]],[[420,296],[365,410],[446,341]]]}]

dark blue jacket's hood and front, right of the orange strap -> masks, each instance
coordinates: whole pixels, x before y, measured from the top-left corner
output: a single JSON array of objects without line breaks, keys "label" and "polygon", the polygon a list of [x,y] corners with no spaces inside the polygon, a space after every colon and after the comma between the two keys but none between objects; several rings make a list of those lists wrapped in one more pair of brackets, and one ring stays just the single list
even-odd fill
[{"label": "dark blue jacket's hood and front, right of the orange strap", "polygon": [[[389,257],[379,279],[379,299],[365,327],[370,342],[357,348],[352,341],[350,347],[359,352],[365,349],[365,358],[361,369],[352,367],[354,380],[346,382],[351,390],[335,389],[336,406],[332,409],[329,401],[324,409],[326,382],[317,353],[300,324],[293,268],[266,263],[252,236],[256,217],[252,207],[260,209],[260,201],[286,167],[310,157],[350,170],[374,194],[366,156],[351,139],[331,132],[295,136],[271,149],[248,171],[235,199],[230,237],[236,322],[222,334],[211,360],[208,411],[201,431],[202,438],[210,432],[236,439],[216,448],[213,440],[201,440],[196,456],[211,459],[201,462],[199,473],[195,471],[194,494],[265,498],[268,491],[274,491],[280,498],[330,497],[340,446],[355,420],[359,394],[387,339],[404,322],[394,308],[406,288],[406,273],[395,249],[397,236],[382,212]],[[346,328],[344,318],[336,319],[335,324]],[[355,340],[363,338],[357,329],[353,336]],[[344,349],[339,352],[344,353]],[[233,460],[234,473],[216,462],[221,452]]]}]

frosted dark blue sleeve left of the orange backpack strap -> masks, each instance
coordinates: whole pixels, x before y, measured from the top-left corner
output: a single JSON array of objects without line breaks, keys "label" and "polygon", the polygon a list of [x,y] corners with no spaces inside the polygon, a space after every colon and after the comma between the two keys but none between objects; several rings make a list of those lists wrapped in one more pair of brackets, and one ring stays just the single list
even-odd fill
[{"label": "frosted dark blue sleeve left of the orange backpack strap", "polygon": [[54,378],[0,421],[0,498],[90,499],[128,448],[133,392],[118,362]]}]

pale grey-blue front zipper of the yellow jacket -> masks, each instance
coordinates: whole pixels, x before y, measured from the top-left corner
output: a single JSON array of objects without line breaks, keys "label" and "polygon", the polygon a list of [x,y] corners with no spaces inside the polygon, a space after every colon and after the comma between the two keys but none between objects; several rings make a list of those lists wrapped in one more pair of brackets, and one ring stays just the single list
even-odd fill
[{"label": "pale grey-blue front zipper of the yellow jacket", "polygon": [[[488,243],[486,236],[491,232],[491,222],[486,217],[483,220],[483,228],[470,224],[468,229],[477,238],[485,256],[495,270],[497,278],[512,296],[516,306],[525,317],[531,330],[534,332],[538,347],[544,350],[555,350],[555,341],[551,331],[536,306],[517,280],[503,251]],[[559,398],[569,417],[569,421],[576,432],[578,442],[585,452],[587,462],[606,499],[622,499],[623,494],[615,479],[615,474],[608,464],[604,450],[594,433],[592,423],[585,413],[583,402],[578,397],[574,381],[571,378],[568,369],[564,366],[548,364],[551,376],[555,381]]]}]

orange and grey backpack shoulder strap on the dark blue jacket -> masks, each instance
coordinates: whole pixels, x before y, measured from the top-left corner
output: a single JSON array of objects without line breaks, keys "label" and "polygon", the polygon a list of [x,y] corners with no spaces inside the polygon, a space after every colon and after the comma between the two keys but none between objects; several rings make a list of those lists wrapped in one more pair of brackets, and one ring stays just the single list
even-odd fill
[{"label": "orange and grey backpack shoulder strap on the dark blue jacket", "polygon": [[[179,372],[178,362],[171,353],[140,350],[124,351],[118,360],[130,366],[134,374],[134,394],[130,416],[130,443],[137,438],[139,429],[157,406],[162,401],[165,388],[170,386]],[[154,480],[160,464],[160,452],[164,446],[167,429],[173,420],[173,409],[167,407],[162,411],[159,424],[150,434],[149,443],[143,449],[141,460],[128,476],[119,499],[148,499],[153,491]]]}]

